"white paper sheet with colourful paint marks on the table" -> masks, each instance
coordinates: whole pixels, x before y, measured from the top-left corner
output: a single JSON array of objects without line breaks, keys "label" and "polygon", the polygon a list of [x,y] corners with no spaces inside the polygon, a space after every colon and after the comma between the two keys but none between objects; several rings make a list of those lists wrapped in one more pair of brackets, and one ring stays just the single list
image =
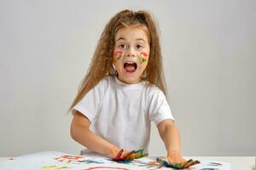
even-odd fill
[{"label": "white paper sheet with colourful paint marks on the table", "polygon": [[[0,162],[1,170],[20,170],[20,169],[84,169],[84,170],[106,170],[106,169],[134,169],[134,170],[157,170],[168,169],[161,167],[156,157],[148,156],[129,162],[111,161],[107,157],[99,155],[74,156],[67,153],[45,151],[34,154],[14,157],[7,161]],[[200,161],[200,160],[199,160]],[[230,170],[230,163],[221,161],[203,161],[198,165],[187,168],[188,170]]]}]

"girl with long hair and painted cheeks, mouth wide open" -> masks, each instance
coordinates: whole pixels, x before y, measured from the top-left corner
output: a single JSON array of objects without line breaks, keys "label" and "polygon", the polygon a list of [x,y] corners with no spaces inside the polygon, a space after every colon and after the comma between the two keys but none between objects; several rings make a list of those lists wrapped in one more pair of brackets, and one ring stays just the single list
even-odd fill
[{"label": "girl with long hair and painted cheeks, mouth wide open", "polygon": [[124,10],[108,22],[73,100],[71,136],[115,158],[124,149],[148,151],[150,122],[158,127],[170,163],[184,162],[166,101],[160,41],[150,14]]}]

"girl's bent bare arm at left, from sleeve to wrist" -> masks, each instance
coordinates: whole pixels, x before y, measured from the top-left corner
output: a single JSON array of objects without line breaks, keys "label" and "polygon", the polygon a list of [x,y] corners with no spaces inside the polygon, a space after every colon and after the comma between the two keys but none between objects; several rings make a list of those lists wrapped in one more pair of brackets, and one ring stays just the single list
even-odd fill
[{"label": "girl's bent bare arm at left, from sleeve to wrist", "polygon": [[90,150],[94,150],[104,156],[114,158],[119,153],[119,148],[110,144],[90,131],[90,121],[79,111],[73,114],[73,121],[70,128],[71,137]]}]

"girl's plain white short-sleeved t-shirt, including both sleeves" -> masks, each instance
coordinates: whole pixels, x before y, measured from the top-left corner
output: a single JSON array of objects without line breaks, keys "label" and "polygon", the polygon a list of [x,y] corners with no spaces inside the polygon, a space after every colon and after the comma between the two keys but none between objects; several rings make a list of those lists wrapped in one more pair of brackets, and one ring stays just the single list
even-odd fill
[{"label": "girl's plain white short-sleeved t-shirt, including both sleeves", "polygon": [[147,84],[126,84],[106,76],[73,110],[87,116],[90,129],[108,142],[124,150],[148,152],[150,122],[174,118],[160,88]]}]

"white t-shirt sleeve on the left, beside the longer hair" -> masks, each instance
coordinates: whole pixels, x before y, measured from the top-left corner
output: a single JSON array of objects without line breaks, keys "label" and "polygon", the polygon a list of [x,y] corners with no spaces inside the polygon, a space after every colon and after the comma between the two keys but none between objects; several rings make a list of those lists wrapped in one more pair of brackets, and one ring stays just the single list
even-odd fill
[{"label": "white t-shirt sleeve on the left, beside the longer hair", "polygon": [[86,116],[90,122],[94,122],[99,108],[102,105],[102,98],[104,95],[104,81],[99,82],[94,88],[84,95],[84,98],[79,101],[77,105],[73,106],[72,113],[75,111],[81,112]]}]

